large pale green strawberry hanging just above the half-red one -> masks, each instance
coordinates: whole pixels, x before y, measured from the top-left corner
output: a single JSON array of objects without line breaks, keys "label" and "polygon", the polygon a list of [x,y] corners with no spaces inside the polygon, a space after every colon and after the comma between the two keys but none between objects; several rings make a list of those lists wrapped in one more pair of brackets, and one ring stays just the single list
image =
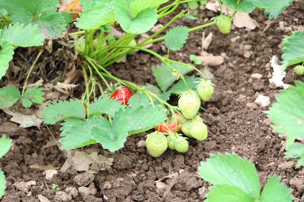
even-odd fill
[{"label": "large pale green strawberry hanging just above the half-red one", "polygon": [[190,90],[181,94],[178,99],[178,107],[185,118],[193,118],[199,111],[201,99],[198,92]]}]

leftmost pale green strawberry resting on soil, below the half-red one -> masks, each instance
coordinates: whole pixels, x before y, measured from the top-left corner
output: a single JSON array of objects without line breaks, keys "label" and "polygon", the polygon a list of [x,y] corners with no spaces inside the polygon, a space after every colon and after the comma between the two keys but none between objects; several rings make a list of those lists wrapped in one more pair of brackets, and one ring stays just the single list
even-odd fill
[{"label": "leftmost pale green strawberry resting on soil, below the half-red one", "polygon": [[147,134],[146,137],[147,150],[151,156],[159,157],[166,151],[168,147],[168,141],[163,133],[155,131],[153,133]]}]

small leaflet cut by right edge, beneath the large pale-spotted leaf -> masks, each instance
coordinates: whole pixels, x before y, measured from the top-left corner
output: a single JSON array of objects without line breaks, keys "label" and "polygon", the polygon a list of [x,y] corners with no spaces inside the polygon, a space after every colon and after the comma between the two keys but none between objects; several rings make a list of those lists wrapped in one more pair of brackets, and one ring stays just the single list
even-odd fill
[{"label": "small leaflet cut by right edge, beneath the large pale-spotted leaf", "polygon": [[304,165],[304,145],[298,142],[286,147],[286,152],[284,153],[287,158],[294,158],[298,161],[295,168]]}]

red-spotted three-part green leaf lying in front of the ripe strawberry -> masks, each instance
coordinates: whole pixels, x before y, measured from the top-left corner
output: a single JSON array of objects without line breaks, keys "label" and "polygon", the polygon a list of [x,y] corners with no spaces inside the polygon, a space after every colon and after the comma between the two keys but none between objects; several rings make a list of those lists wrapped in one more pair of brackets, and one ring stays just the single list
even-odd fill
[{"label": "red-spotted three-part green leaf lying in front of the ripe strawberry", "polygon": [[[127,136],[150,130],[166,120],[167,115],[160,105],[132,108],[132,104],[126,107],[121,101],[100,97],[90,105],[86,119],[84,105],[77,99],[70,101],[48,104],[42,113],[43,121],[48,124],[64,120],[60,128],[63,149],[100,143],[104,149],[116,151],[123,147]],[[108,114],[109,119],[101,114]]]}]

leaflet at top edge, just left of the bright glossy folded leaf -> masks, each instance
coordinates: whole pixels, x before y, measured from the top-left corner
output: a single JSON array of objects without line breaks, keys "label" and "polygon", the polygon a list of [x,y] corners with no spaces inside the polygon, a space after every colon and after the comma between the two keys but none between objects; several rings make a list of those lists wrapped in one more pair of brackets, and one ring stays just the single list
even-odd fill
[{"label": "leaflet at top edge, just left of the bright glossy folded leaf", "polygon": [[112,0],[87,1],[81,0],[82,13],[77,18],[75,25],[81,29],[97,29],[116,21]]}]

